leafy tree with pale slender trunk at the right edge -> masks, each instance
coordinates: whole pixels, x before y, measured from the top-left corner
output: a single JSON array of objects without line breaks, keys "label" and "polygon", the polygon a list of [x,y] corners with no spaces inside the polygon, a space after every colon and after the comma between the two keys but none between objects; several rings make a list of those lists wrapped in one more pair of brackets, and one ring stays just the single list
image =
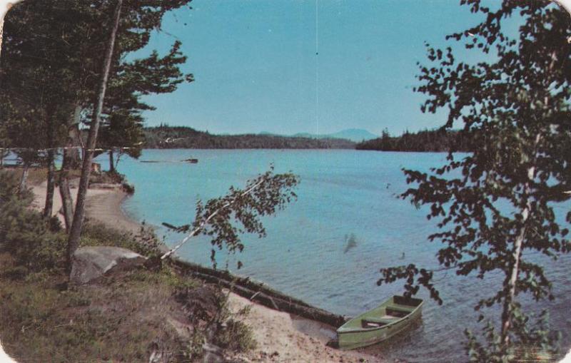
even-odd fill
[{"label": "leafy tree with pale slender trunk at the right edge", "polygon": [[[549,350],[547,335],[525,324],[517,295],[552,298],[534,255],[555,260],[571,248],[571,212],[557,216],[553,209],[571,198],[571,23],[550,1],[504,0],[495,9],[480,0],[460,4],[483,20],[447,39],[489,55],[487,61],[458,61],[452,47],[428,45],[430,64],[419,65],[415,91],[427,96],[423,112],[448,112],[444,128],[461,125],[469,153],[452,150],[430,173],[404,170],[413,186],[402,197],[430,205],[428,218],[439,220],[429,239],[443,244],[440,269],[480,279],[502,273],[497,292],[475,306],[501,306],[500,334],[490,324],[487,347],[472,335],[467,345],[471,359],[509,361],[518,344]],[[509,21],[520,21],[517,31],[510,33]],[[441,303],[434,272],[414,264],[383,268],[378,285],[405,279],[407,295],[423,286]]]}]

